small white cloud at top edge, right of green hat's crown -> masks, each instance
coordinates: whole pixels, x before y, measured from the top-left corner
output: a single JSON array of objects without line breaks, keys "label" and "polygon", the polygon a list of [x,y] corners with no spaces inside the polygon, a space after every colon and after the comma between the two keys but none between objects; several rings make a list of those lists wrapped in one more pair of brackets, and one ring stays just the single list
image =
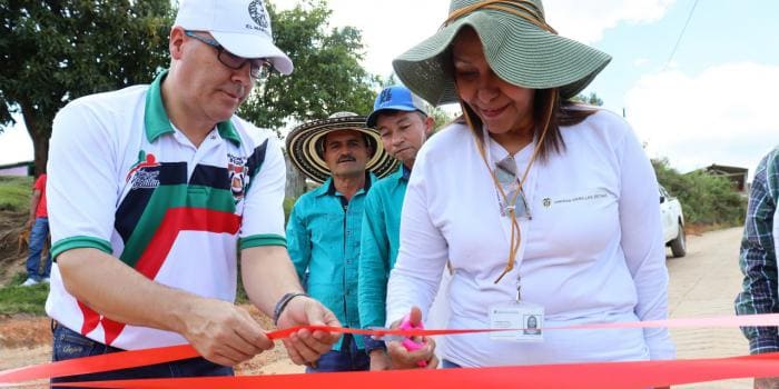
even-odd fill
[{"label": "small white cloud at top edge, right of green hat's crown", "polygon": [[652,23],[665,16],[676,0],[549,0],[546,20],[561,36],[593,43],[620,22]]}]

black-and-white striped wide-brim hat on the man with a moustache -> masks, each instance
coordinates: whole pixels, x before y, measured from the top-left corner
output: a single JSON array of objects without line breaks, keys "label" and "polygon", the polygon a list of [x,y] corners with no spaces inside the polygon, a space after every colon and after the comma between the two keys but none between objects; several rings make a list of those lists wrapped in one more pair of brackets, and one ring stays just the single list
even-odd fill
[{"label": "black-and-white striped wide-brim hat on the man with a moustache", "polygon": [[306,177],[323,183],[331,177],[331,170],[323,156],[325,136],[338,130],[355,130],[366,134],[368,146],[375,150],[368,158],[366,170],[379,178],[386,177],[396,170],[398,161],[386,152],[378,131],[366,128],[365,120],[364,116],[338,112],[327,119],[309,121],[294,128],[286,140],[289,159]]}]

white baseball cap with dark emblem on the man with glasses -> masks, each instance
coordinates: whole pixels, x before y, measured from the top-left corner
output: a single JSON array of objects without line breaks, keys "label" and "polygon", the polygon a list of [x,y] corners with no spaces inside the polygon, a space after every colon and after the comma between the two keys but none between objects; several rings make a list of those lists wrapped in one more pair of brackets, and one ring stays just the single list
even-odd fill
[{"label": "white baseball cap with dark emblem on the man with glasses", "polygon": [[289,57],[273,42],[264,0],[181,0],[174,26],[208,31],[238,57],[266,58],[282,74],[293,71]]}]

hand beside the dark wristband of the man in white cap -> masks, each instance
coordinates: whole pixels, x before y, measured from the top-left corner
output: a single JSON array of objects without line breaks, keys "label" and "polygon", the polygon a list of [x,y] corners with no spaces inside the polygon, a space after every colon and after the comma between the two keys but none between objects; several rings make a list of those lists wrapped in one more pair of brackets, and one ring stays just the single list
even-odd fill
[{"label": "hand beside the dark wristband of the man in white cap", "polygon": [[[289,301],[278,318],[279,329],[295,326],[341,327],[341,323],[319,301],[299,296]],[[283,342],[293,362],[307,365],[317,361],[323,353],[329,351],[339,337],[341,333],[302,329],[293,332]]]}]

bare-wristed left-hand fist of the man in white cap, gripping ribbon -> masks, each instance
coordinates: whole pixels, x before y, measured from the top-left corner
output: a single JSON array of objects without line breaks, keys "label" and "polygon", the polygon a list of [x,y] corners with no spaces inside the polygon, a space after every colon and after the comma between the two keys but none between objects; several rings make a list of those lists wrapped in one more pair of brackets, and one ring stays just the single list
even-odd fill
[{"label": "bare-wristed left-hand fist of the man in white cap, gripping ribbon", "polygon": [[233,303],[203,299],[193,307],[180,333],[214,363],[235,366],[274,347],[259,323]]}]

